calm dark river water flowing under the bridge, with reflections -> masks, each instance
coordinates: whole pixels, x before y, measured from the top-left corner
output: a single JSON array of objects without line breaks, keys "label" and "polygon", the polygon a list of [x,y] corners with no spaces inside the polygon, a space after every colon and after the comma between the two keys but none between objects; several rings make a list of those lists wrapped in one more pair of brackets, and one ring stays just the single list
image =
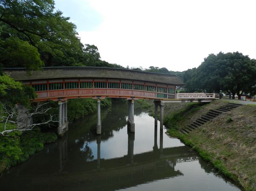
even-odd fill
[{"label": "calm dark river water flowing under the bridge, with reflections", "polygon": [[135,110],[135,133],[127,131],[127,105],[76,120],[58,142],[46,145],[0,178],[1,191],[233,191],[240,190],[201,160],[154,118]]}]

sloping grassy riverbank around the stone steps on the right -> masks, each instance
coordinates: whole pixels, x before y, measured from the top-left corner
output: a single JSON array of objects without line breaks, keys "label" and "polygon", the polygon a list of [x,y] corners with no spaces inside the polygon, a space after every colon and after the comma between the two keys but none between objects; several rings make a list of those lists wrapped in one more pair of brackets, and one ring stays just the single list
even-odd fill
[{"label": "sloping grassy riverbank around the stone steps on the right", "polygon": [[[217,116],[188,135],[178,133],[182,128],[207,113],[209,109],[227,102],[214,101],[206,105],[184,104],[168,113],[165,106],[164,124],[171,136],[180,138],[195,149],[204,160],[231,178],[244,190],[256,189],[256,106],[244,105]],[[184,120],[186,119],[186,120]]]}]

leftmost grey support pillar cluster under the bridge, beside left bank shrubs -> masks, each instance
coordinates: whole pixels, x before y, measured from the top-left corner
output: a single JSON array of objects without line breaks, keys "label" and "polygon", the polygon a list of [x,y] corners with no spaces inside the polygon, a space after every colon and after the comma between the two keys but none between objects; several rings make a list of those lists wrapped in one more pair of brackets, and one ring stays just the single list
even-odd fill
[{"label": "leftmost grey support pillar cluster under the bridge, beside left bank shrubs", "polygon": [[67,101],[59,101],[59,126],[58,126],[58,136],[63,136],[68,130],[67,122]]}]

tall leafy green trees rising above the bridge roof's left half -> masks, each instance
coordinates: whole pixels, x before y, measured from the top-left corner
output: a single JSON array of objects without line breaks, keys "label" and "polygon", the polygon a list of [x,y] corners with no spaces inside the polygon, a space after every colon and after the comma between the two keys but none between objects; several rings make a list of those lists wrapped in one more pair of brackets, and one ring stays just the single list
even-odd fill
[{"label": "tall leafy green trees rising above the bridge roof's left half", "polygon": [[53,0],[0,1],[0,64],[4,67],[110,66],[95,45],[80,42],[76,25]]}]

